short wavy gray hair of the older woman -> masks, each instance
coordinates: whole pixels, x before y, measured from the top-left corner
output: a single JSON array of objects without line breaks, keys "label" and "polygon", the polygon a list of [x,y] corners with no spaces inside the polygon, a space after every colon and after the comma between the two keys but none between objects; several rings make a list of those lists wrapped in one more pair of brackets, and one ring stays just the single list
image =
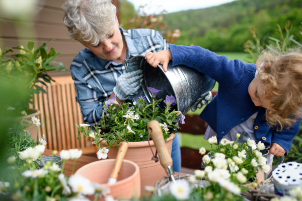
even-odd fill
[{"label": "short wavy gray hair of the older woman", "polygon": [[67,0],[63,4],[64,23],[70,38],[98,45],[108,36],[115,21],[112,0]]}]

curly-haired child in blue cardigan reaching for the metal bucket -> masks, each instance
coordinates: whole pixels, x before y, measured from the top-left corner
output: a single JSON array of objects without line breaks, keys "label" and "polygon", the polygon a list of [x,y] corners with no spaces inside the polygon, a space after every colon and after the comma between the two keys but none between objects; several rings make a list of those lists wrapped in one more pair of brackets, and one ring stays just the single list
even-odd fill
[{"label": "curly-haired child in blue cardigan reaching for the metal bucket", "polygon": [[218,93],[200,117],[208,124],[205,139],[236,141],[246,131],[258,143],[271,146],[273,155],[287,155],[299,131],[302,106],[302,54],[264,52],[257,64],[218,56],[198,46],[169,45],[169,49],[145,55],[155,68],[184,64],[219,83]]}]

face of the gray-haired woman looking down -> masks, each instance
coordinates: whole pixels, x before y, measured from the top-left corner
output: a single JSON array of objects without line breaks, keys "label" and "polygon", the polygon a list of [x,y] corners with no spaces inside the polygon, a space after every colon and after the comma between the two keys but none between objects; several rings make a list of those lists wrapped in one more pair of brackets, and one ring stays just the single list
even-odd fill
[{"label": "face of the gray-haired woman looking down", "polygon": [[103,59],[116,60],[118,59],[123,50],[123,38],[118,28],[118,21],[107,34],[107,39],[103,43],[99,43],[97,46],[85,43],[85,47],[89,48],[95,55]]}]

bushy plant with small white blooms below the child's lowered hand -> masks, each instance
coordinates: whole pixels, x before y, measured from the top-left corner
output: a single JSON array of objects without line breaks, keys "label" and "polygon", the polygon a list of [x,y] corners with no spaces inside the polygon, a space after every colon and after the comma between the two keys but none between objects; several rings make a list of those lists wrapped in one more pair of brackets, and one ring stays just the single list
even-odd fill
[{"label": "bushy plant with small white blooms below the child's lowered hand", "polygon": [[[237,141],[240,133],[237,133]],[[222,139],[217,145],[216,136],[208,140],[210,145],[217,147],[210,151],[202,158],[205,168],[216,168],[219,170],[228,170],[230,172],[230,180],[234,183],[245,184],[256,180],[258,167],[267,173],[270,166],[266,164],[267,159],[262,156],[260,150],[264,150],[265,146],[259,142],[256,146],[255,141],[249,140],[247,143],[231,142]],[[200,154],[205,154],[205,149],[201,148]]]}]

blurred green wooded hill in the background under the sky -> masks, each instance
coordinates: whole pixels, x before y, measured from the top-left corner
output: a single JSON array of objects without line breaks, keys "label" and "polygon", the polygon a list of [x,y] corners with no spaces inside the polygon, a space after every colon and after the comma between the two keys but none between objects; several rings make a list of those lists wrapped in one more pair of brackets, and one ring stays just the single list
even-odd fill
[{"label": "blurred green wooded hill in the background under the sky", "polygon": [[[276,25],[283,28],[287,20],[293,24],[291,34],[297,33],[302,22],[302,0],[238,0],[164,15],[169,27],[182,31],[177,44],[199,45],[212,51],[243,51],[243,44],[252,39],[250,28],[255,28],[260,39],[274,37]],[[298,37],[295,35],[295,39]]]}]

